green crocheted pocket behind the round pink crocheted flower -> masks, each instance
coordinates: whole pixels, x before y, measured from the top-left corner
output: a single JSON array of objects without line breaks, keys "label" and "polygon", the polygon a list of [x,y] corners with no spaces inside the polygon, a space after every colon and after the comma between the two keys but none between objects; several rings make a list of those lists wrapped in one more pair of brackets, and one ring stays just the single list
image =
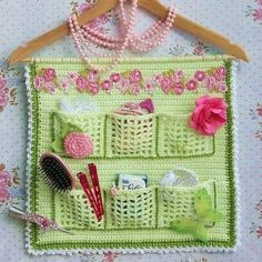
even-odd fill
[{"label": "green crocheted pocket behind the round pink crocheted flower", "polygon": [[93,153],[90,158],[104,157],[104,119],[103,114],[98,113],[53,113],[53,141],[56,141],[56,152],[67,157],[62,147],[62,132],[64,127],[70,131],[83,132],[89,134],[93,142]]}]

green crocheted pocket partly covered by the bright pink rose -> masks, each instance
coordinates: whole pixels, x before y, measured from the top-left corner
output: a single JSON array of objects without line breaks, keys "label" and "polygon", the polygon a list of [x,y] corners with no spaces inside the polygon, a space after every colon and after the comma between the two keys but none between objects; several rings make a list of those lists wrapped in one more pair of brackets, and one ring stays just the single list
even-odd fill
[{"label": "green crocheted pocket partly covered by the bright pink rose", "polygon": [[214,153],[214,138],[189,128],[189,115],[159,115],[159,157],[200,157]]}]

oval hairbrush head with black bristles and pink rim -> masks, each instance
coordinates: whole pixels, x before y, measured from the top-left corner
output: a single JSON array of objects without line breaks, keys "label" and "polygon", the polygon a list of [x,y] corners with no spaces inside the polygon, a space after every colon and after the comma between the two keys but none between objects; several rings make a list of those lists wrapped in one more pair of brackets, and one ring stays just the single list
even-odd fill
[{"label": "oval hairbrush head with black bristles and pink rim", "polygon": [[51,152],[43,153],[39,165],[42,178],[54,191],[67,193],[75,188],[70,169],[57,154]]}]

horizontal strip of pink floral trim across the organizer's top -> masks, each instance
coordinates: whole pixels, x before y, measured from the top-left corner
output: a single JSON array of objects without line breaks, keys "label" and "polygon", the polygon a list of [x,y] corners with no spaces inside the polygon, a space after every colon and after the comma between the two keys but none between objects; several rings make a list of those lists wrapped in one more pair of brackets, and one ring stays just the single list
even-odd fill
[{"label": "horizontal strip of pink floral trim across the organizer's top", "polygon": [[37,90],[46,90],[53,93],[56,89],[67,90],[77,88],[79,92],[98,94],[103,91],[111,93],[119,90],[123,94],[138,95],[142,92],[152,94],[157,89],[167,94],[181,95],[185,91],[196,92],[199,88],[205,88],[210,92],[225,92],[226,69],[215,68],[209,72],[196,71],[192,77],[185,77],[182,70],[169,70],[148,77],[135,69],[124,72],[112,72],[102,79],[97,70],[85,72],[69,72],[66,78],[59,80],[53,69],[42,69],[34,79]]}]

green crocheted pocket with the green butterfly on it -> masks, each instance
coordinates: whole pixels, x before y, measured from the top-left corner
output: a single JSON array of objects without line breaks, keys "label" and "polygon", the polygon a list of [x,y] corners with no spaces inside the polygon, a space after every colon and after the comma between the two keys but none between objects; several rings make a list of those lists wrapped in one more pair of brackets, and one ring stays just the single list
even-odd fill
[{"label": "green crocheted pocket with the green butterfly on it", "polygon": [[215,205],[214,181],[206,181],[192,187],[162,187],[158,190],[159,218],[158,228],[170,228],[178,218],[193,218],[194,195],[198,190],[206,189]]}]

